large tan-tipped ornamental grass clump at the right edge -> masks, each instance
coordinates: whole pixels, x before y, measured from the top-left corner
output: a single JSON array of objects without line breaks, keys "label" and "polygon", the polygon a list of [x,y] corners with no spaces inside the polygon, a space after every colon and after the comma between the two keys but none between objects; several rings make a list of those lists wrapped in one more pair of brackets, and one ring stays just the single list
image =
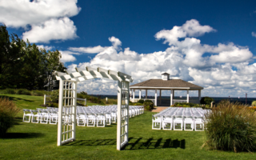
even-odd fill
[{"label": "large tan-tipped ornamental grass clump at the right edge", "polygon": [[206,146],[234,152],[255,150],[255,113],[238,102],[220,102],[205,117]]}]

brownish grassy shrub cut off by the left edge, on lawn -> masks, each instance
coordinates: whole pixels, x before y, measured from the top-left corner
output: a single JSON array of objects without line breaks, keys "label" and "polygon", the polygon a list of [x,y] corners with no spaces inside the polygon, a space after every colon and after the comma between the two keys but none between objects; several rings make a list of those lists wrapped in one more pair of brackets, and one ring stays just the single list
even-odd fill
[{"label": "brownish grassy shrub cut off by the left edge, on lawn", "polygon": [[0,137],[3,137],[6,131],[14,125],[14,116],[18,111],[14,102],[8,98],[0,98]]}]

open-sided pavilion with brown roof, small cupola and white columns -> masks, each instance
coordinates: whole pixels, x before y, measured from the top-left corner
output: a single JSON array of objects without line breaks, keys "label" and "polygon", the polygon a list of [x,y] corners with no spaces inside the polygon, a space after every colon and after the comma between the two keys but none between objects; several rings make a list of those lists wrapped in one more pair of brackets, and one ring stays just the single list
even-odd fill
[{"label": "open-sided pavilion with brown roof, small cupola and white columns", "polygon": [[[142,99],[142,90],[146,90],[146,96],[143,99],[150,99],[154,102],[155,106],[171,106],[175,102],[192,102],[200,103],[202,86],[194,85],[193,83],[183,81],[182,79],[170,79],[170,74],[162,74],[162,79],[150,79],[144,82],[139,82],[130,86],[131,102],[138,102]],[[139,90],[138,98],[135,98],[135,90]],[[155,90],[154,99],[148,98],[147,90]],[[160,95],[158,99],[158,90]],[[162,99],[162,90],[170,90],[170,99]],[[186,90],[186,99],[174,99],[175,90]],[[190,90],[198,90],[198,98],[190,99]],[[164,104],[162,102],[165,102]]]}]

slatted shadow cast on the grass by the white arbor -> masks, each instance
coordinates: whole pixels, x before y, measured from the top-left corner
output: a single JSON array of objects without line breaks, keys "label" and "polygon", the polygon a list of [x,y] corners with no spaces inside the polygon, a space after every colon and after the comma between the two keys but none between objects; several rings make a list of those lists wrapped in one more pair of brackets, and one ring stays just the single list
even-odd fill
[{"label": "slatted shadow cast on the grass by the white arbor", "polygon": [[[76,140],[67,143],[65,146],[109,146],[116,145],[116,139],[98,139],[98,140]],[[145,149],[162,149],[162,148],[181,148],[185,149],[185,139],[154,139],[154,138],[129,138],[128,145],[122,150],[145,150]]]}]

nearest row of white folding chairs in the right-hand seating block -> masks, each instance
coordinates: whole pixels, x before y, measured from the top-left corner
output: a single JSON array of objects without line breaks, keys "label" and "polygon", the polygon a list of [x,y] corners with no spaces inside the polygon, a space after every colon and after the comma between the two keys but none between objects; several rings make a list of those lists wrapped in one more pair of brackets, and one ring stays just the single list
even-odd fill
[{"label": "nearest row of white folding chairs in the right-hand seating block", "polygon": [[204,121],[200,116],[162,115],[152,116],[153,130],[204,130]]}]

